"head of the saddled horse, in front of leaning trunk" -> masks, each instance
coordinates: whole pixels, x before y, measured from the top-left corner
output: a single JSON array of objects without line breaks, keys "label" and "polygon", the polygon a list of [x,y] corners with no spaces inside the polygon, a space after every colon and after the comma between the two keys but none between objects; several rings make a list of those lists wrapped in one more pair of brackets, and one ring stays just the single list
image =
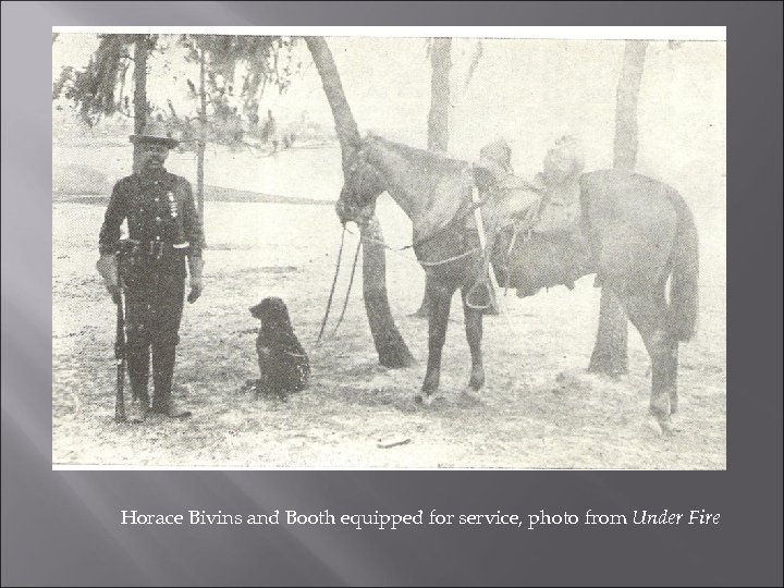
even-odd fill
[{"label": "head of the saddled horse, in front of leaning trunk", "polygon": [[376,211],[376,198],[385,189],[381,175],[368,156],[369,147],[364,142],[351,158],[351,167],[335,205],[338,218],[343,224],[348,221],[364,224],[370,220]]}]

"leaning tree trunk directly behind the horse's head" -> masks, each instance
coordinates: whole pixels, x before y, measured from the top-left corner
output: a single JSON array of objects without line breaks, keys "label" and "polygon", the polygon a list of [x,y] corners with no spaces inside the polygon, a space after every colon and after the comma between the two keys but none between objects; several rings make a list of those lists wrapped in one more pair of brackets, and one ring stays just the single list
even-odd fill
[{"label": "leaning tree trunk directly behind the horse's head", "polygon": [[[321,76],[321,84],[332,109],[335,131],[341,144],[343,173],[345,174],[359,143],[359,131],[345,98],[338,68],[327,41],[323,37],[305,37],[305,42]],[[387,367],[408,366],[413,357],[395,326],[387,296],[385,250],[381,226],[376,217],[362,228],[362,240],[365,309],[379,355],[379,363]]]}]

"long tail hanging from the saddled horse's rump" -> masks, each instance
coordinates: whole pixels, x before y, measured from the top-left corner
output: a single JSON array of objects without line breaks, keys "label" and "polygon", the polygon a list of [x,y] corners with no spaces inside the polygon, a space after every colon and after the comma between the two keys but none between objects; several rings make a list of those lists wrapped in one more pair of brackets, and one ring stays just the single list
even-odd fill
[{"label": "long tail hanging from the saddled horse's rump", "polygon": [[678,341],[688,341],[697,331],[699,308],[699,248],[694,216],[683,197],[675,193],[677,231],[671,257],[672,281],[667,327]]}]

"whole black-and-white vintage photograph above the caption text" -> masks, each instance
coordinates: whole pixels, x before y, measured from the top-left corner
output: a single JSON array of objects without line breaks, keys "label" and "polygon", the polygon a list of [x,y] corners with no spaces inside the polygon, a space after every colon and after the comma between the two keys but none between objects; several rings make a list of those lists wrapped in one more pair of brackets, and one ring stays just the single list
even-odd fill
[{"label": "whole black-and-white vintage photograph above the caption text", "polygon": [[723,36],[281,30],[52,33],[53,467],[726,468]]}]

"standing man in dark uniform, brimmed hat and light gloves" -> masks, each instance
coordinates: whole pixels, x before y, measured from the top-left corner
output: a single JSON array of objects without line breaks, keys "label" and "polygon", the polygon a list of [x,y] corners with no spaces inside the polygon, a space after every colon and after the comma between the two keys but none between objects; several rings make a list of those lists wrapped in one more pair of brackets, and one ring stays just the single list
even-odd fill
[{"label": "standing man in dark uniform, brimmed hat and light gloves", "polygon": [[[171,389],[188,273],[188,302],[201,295],[201,219],[188,181],[163,168],[169,149],[176,147],[177,140],[150,126],[130,138],[136,149],[134,173],[120,180],[112,191],[100,230],[97,267],[107,290],[119,301],[115,252],[121,224],[127,220],[135,247],[120,262],[125,286],[127,370],[133,396],[138,401],[134,420],[144,420],[148,412],[187,418],[191,412],[175,406]],[[151,405],[147,391],[150,352],[155,387]]]}]

